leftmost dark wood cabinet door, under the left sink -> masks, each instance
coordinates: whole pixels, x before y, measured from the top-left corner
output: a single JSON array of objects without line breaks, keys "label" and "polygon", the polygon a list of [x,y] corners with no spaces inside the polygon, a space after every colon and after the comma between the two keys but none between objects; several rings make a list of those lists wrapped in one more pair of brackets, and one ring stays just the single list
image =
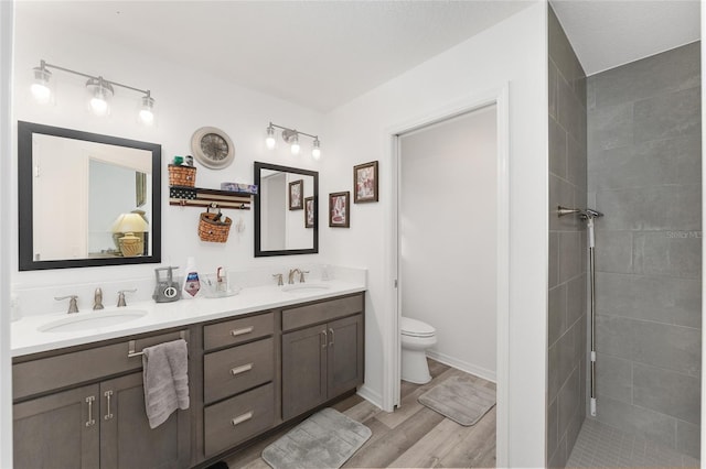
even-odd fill
[{"label": "leftmost dark wood cabinet door, under the left sink", "polygon": [[97,468],[99,401],[96,384],[15,404],[14,467]]}]

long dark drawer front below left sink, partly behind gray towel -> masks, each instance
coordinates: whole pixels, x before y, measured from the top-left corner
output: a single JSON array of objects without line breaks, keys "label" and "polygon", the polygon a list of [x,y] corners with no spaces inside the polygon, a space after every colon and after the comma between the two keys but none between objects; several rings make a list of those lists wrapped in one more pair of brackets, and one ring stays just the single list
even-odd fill
[{"label": "long dark drawer front below left sink, partly behind gray towel", "polygon": [[[188,331],[182,331],[189,338]],[[180,331],[135,339],[135,351],[181,338]],[[128,358],[132,338],[109,346],[40,358],[12,366],[14,400],[142,368],[142,356]]]}]

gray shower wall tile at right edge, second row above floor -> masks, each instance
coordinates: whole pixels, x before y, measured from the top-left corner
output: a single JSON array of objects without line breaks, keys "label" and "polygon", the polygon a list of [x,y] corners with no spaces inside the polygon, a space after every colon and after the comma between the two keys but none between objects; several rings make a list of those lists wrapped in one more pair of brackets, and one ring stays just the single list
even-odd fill
[{"label": "gray shower wall tile at right edge, second row above floor", "polygon": [[698,425],[699,379],[640,363],[633,366],[633,403]]}]

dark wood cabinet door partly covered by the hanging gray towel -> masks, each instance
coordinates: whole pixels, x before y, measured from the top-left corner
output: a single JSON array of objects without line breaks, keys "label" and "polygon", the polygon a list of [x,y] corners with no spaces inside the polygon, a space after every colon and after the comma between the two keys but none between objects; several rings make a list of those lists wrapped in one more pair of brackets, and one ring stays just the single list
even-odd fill
[{"label": "dark wood cabinet door partly covered by the hanging gray towel", "polygon": [[189,467],[189,411],[176,411],[151,429],[145,413],[141,372],[100,383],[97,418],[100,418],[101,469]]}]

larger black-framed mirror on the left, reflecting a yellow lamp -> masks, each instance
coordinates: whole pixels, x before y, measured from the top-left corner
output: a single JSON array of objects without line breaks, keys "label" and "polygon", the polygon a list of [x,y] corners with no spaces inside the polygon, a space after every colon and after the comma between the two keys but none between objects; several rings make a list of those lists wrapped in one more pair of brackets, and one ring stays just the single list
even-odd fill
[{"label": "larger black-framed mirror on the left, reflecting a yellow lamp", "polygon": [[162,148],[18,122],[19,269],[161,262]]}]

